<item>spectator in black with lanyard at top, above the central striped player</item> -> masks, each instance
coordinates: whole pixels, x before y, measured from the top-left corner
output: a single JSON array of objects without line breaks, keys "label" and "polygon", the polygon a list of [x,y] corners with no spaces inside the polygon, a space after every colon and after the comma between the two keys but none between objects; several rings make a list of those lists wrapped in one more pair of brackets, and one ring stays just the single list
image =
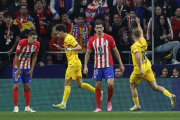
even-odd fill
[{"label": "spectator in black with lanyard at top, above the central striped player", "polygon": [[123,5],[124,0],[116,0],[116,1],[117,1],[117,5],[113,6],[109,10],[110,24],[112,24],[113,22],[114,14],[119,14],[120,16],[122,16],[122,18],[124,18],[126,15],[129,14],[130,11],[130,7]]}]

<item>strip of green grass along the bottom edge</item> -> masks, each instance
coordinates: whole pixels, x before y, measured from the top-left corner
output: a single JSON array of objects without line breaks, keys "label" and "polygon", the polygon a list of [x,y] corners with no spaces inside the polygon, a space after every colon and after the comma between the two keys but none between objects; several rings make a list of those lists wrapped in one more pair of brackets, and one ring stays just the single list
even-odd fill
[{"label": "strip of green grass along the bottom edge", "polygon": [[179,112],[112,111],[93,113],[92,111],[37,111],[37,113],[13,113],[0,111],[0,120],[178,120]]}]

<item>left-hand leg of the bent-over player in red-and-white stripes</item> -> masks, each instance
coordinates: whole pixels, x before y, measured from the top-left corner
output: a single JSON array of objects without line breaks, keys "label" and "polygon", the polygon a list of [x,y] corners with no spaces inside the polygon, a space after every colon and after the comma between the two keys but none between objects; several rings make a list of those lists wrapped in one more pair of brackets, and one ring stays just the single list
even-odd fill
[{"label": "left-hand leg of the bent-over player in red-and-white stripes", "polygon": [[[13,101],[14,101],[14,111],[13,112],[19,112],[18,108],[18,97],[19,97],[19,86],[21,82],[21,75],[18,76],[18,78],[14,78],[14,73],[17,71],[17,68],[13,67],[12,71],[12,79],[13,79]],[[22,73],[22,71],[21,71]]]}]

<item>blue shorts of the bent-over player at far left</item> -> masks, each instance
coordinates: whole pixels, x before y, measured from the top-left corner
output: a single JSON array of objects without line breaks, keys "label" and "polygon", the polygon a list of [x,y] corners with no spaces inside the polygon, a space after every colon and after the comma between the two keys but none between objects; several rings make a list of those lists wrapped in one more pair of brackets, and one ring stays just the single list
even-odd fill
[{"label": "blue shorts of the bent-over player at far left", "polygon": [[26,75],[31,69],[21,69],[21,75],[18,76],[18,78],[14,78],[14,73],[17,71],[17,68],[13,67],[13,72],[12,72],[12,78],[13,78],[13,83],[20,83],[21,78],[23,83],[31,83],[31,78],[30,75]]}]

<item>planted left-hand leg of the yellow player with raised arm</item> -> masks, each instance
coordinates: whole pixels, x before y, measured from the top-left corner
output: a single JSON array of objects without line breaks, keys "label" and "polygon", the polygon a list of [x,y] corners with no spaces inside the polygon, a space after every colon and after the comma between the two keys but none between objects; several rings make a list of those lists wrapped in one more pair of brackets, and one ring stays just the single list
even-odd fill
[{"label": "planted left-hand leg of the yellow player with raised arm", "polygon": [[134,106],[130,108],[131,111],[139,111],[141,110],[141,106],[139,105],[139,98],[138,98],[138,92],[137,92],[137,86],[142,81],[141,75],[131,74],[130,76],[130,89],[132,98],[134,101]]}]

